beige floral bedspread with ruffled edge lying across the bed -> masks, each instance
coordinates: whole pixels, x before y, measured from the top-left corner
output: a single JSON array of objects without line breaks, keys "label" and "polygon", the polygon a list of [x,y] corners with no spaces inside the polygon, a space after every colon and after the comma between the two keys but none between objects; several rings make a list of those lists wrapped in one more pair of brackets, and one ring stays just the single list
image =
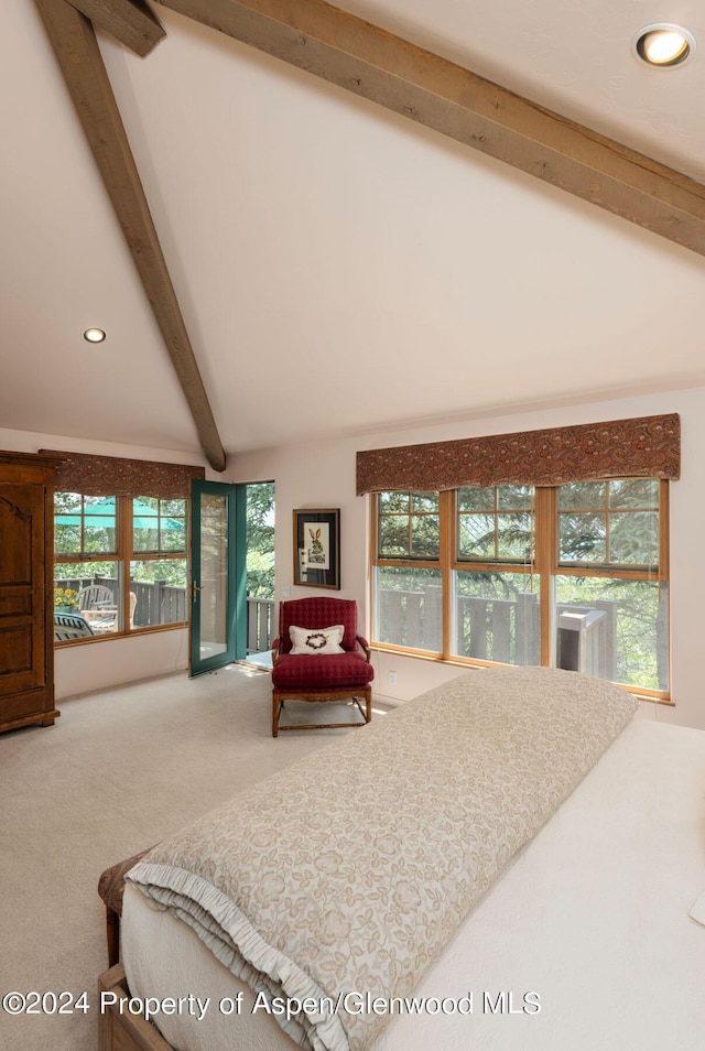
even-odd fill
[{"label": "beige floral bedspread with ruffled edge lying across the bed", "polygon": [[465,673],[240,793],[128,879],[278,997],[302,1047],[362,1051],[389,1021],[371,1000],[413,993],[636,707],[575,672]]}]

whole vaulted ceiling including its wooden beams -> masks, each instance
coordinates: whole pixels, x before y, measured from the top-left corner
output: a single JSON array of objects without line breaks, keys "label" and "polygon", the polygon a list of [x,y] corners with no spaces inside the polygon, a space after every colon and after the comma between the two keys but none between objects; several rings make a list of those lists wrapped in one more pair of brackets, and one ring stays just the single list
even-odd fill
[{"label": "whole vaulted ceiling including its wooden beams", "polygon": [[[649,69],[632,37],[676,13],[702,47]],[[221,469],[705,383],[694,2],[4,0],[0,19],[0,426]]]}]

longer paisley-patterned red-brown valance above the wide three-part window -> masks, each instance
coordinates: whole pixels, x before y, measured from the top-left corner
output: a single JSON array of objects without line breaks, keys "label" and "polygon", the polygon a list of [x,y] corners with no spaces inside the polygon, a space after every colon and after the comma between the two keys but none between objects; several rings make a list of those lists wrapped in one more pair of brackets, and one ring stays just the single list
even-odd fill
[{"label": "longer paisley-patterned red-brown valance above the wide three-part window", "polygon": [[358,496],[615,477],[673,479],[680,474],[681,418],[675,412],[357,454]]}]

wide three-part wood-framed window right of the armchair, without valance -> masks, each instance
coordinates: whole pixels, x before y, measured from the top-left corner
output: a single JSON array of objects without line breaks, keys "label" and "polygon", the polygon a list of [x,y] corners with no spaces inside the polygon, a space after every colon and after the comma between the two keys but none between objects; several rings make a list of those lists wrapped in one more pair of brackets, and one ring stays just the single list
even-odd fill
[{"label": "wide three-part wood-framed window right of the armchair, without valance", "polygon": [[372,639],[668,696],[668,483],[465,486],[373,499]]}]

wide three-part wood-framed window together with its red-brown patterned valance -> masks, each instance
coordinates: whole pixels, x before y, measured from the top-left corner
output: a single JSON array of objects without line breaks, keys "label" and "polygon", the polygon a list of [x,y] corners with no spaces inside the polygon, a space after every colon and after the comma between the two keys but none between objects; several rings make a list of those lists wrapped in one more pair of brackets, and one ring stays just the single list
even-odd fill
[{"label": "wide three-part wood-framed window together with its red-brown patterned valance", "polygon": [[358,453],[372,639],[584,671],[669,697],[676,414]]}]

